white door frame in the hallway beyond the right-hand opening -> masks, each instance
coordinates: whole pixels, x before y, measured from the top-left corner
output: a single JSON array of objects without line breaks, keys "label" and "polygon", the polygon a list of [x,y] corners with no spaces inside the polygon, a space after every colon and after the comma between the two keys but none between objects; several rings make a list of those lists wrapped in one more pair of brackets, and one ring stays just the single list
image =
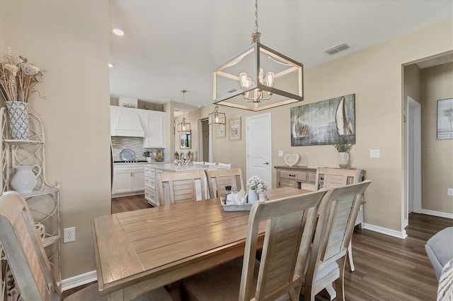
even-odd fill
[{"label": "white door frame in the hallway beyond the right-hand opening", "polygon": [[[409,146],[413,146],[412,149]],[[412,162],[409,162],[409,153],[412,151]],[[413,173],[410,181],[409,173]],[[407,97],[406,100],[406,210],[404,225],[409,223],[409,190],[413,192],[413,212],[422,213],[422,179],[421,179],[421,105]]]}]

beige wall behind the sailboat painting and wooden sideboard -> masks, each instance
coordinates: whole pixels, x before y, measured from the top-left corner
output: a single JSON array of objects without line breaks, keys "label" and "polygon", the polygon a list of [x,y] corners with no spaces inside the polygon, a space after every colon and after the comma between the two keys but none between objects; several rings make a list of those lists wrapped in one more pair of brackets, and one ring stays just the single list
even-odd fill
[{"label": "beige wall behind the sailboat painting and wooden sideboard", "polygon": [[[372,179],[365,206],[365,223],[403,232],[405,195],[403,153],[403,65],[452,49],[452,19],[435,23],[382,44],[305,71],[305,100],[297,105],[277,107],[272,112],[272,162],[284,165],[277,151],[298,153],[299,165],[338,166],[333,146],[291,147],[290,107],[355,93],[356,143],[350,152],[352,167],[367,170]],[[302,58],[303,61],[303,58]],[[214,107],[201,111],[207,117]],[[242,117],[242,140],[213,139],[214,161],[231,162],[246,170],[246,117],[260,114],[220,107],[226,119]],[[268,110],[262,111],[268,112]],[[381,158],[369,158],[379,149]],[[452,169],[442,167],[445,172]],[[273,187],[275,187],[275,171]]]}]

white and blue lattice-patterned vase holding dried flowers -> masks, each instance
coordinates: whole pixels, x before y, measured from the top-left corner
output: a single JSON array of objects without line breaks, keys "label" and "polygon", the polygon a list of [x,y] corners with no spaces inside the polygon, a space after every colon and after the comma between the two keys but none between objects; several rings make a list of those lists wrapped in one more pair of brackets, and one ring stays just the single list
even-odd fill
[{"label": "white and blue lattice-patterned vase holding dried flowers", "polygon": [[28,124],[28,103],[23,101],[7,101],[11,138],[27,140],[30,127]]}]

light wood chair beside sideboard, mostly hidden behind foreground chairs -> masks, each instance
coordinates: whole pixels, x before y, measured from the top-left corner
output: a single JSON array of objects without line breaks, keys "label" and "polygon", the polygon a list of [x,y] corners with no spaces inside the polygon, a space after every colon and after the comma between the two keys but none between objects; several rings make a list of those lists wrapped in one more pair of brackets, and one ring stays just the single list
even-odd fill
[{"label": "light wood chair beside sideboard, mostly hidden behind foreground chairs", "polygon": [[[319,167],[316,170],[316,187],[319,188],[331,188],[331,187],[341,187],[348,184],[354,184],[362,182],[365,177],[365,170],[358,169],[344,169],[344,168],[331,168],[331,167]],[[357,218],[354,225],[360,225],[362,229],[363,224],[363,204],[365,202],[362,200],[360,203],[359,212],[357,213]],[[348,247],[348,260],[350,271],[355,271],[354,261],[352,259],[352,242]]]}]

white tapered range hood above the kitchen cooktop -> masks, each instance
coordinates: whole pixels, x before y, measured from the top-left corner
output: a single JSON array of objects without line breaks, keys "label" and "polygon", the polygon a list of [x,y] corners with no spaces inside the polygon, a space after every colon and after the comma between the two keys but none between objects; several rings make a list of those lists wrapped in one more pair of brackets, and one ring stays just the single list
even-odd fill
[{"label": "white tapered range hood above the kitchen cooktop", "polygon": [[139,110],[110,106],[110,136],[144,137]]}]

